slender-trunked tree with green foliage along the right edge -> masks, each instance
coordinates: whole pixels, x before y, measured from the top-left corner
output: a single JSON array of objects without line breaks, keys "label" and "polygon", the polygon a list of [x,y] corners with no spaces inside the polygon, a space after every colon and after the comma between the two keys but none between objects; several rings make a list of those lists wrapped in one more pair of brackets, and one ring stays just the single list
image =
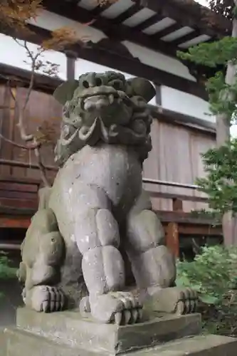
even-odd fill
[{"label": "slender-trunked tree with green foliage along the right edge", "polygon": [[204,153],[206,178],[198,179],[197,184],[208,194],[211,208],[222,214],[224,242],[229,245],[235,242],[237,221],[237,140],[230,136],[230,127],[237,119],[237,0],[208,2],[211,10],[232,21],[231,36],[201,43],[187,53],[178,52],[178,56],[211,68],[223,67],[206,81],[211,112],[216,115],[217,148]]}]

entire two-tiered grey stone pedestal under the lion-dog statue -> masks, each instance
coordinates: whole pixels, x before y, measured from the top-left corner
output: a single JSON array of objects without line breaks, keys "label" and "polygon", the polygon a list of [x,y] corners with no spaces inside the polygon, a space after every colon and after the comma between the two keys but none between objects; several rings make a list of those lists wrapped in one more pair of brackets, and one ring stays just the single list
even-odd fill
[{"label": "entire two-tiered grey stone pedestal under the lion-dog statue", "polygon": [[237,349],[230,337],[199,335],[199,314],[117,327],[80,318],[78,310],[44,314],[21,308],[16,325],[0,330],[1,356],[236,356]]}]

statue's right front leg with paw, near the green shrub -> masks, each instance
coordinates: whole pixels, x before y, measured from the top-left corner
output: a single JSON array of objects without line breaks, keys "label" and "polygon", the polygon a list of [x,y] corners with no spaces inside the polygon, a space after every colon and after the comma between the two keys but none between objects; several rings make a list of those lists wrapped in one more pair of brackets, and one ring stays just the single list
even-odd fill
[{"label": "statue's right front leg with paw, near the green shrub", "polygon": [[164,246],[164,230],[145,192],[127,218],[127,253],[143,298],[152,300],[156,310],[191,313],[197,295],[188,288],[174,287],[176,264]]}]

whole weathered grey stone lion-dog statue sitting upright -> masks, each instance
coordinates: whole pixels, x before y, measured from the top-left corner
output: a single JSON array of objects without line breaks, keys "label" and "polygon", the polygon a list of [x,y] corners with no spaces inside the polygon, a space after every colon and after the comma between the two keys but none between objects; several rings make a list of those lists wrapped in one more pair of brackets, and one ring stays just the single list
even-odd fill
[{"label": "whole weathered grey stone lion-dog statue sitting upright", "polygon": [[[175,286],[175,261],[142,190],[142,162],[152,148],[155,95],[149,81],[121,73],[86,73],[55,92],[63,104],[53,187],[21,246],[24,303],[52,312],[79,308],[102,323],[142,319],[142,306],[192,313],[196,294]],[[135,286],[126,285],[128,257]],[[134,287],[134,288],[132,288]]]}]

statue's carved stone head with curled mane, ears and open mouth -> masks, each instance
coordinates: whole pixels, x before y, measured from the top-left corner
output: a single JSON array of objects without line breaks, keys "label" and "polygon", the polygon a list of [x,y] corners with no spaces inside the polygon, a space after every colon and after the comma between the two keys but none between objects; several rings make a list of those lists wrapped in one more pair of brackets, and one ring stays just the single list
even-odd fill
[{"label": "statue's carved stone head with curled mane, ears and open mouth", "polygon": [[[78,80],[63,83],[54,93],[63,105],[56,160],[60,163],[62,158],[59,156],[66,157],[70,152],[80,150],[84,145],[95,145],[99,140],[127,145],[142,143],[142,137],[145,140],[149,134],[151,123],[146,104],[154,95],[154,87],[148,80],[126,80],[122,73],[113,71],[85,73]],[[125,127],[127,143],[123,142]],[[133,136],[132,141],[129,136]],[[66,155],[65,151],[68,151]]]}]

